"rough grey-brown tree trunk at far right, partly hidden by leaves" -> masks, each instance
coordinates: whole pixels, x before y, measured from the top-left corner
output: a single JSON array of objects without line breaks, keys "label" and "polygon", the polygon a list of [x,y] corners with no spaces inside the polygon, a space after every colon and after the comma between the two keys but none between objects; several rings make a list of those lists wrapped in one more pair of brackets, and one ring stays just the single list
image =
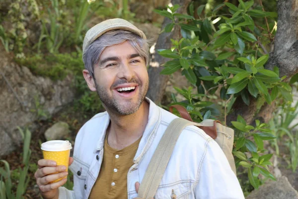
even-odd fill
[{"label": "rough grey-brown tree trunk at far right, partly hidden by leaves", "polygon": [[[280,70],[280,77],[287,76],[288,80],[298,73],[298,0],[279,0],[277,3],[278,23],[274,41],[274,51],[270,53],[270,58],[265,65],[266,69],[272,70],[277,66]],[[227,124],[237,119],[241,115],[246,122],[252,123],[254,119],[259,119],[267,123],[274,111],[274,102],[262,106],[258,115],[257,100],[250,99],[249,106],[243,105],[241,98],[233,104],[233,110],[227,116]]]}]

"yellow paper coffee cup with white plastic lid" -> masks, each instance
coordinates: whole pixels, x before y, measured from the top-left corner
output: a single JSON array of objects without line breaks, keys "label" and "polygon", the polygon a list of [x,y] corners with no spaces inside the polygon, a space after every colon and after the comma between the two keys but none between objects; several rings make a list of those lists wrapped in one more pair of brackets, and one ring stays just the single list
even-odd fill
[{"label": "yellow paper coffee cup with white plastic lid", "polygon": [[[70,143],[68,140],[51,140],[41,144],[41,150],[43,152],[44,159],[56,161],[57,166],[66,166],[66,171],[68,171],[69,167],[71,149],[72,143]],[[56,183],[62,179],[63,178],[60,178],[51,183]]]}]

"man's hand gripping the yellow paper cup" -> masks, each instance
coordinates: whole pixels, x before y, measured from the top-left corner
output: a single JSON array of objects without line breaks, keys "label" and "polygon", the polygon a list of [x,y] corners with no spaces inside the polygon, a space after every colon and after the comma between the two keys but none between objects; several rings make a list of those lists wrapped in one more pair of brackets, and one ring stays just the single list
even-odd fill
[{"label": "man's hand gripping the yellow paper cup", "polygon": [[[69,165],[71,165],[73,162],[74,159],[70,157]],[[66,166],[57,166],[55,161],[45,159],[39,160],[37,164],[38,169],[34,176],[42,197],[44,199],[58,199],[58,188],[66,183],[67,178],[56,183],[50,183],[68,175],[68,172],[66,172]]]}]

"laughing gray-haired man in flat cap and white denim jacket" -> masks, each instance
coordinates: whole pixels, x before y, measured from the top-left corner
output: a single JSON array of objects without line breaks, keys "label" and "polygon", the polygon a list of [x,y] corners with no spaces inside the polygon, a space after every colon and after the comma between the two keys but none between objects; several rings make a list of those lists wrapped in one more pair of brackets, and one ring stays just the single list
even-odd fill
[{"label": "laughing gray-haired man in flat cap and white denim jacket", "polygon": [[[134,199],[168,124],[177,116],[146,98],[148,42],[123,19],[92,27],[83,44],[83,76],[106,109],[79,130],[70,158],[74,191],[61,187],[63,166],[40,160],[35,173],[45,199]],[[58,173],[55,173],[58,172]],[[55,174],[53,174],[55,173]],[[244,199],[219,145],[203,130],[185,128],[155,199]]]}]

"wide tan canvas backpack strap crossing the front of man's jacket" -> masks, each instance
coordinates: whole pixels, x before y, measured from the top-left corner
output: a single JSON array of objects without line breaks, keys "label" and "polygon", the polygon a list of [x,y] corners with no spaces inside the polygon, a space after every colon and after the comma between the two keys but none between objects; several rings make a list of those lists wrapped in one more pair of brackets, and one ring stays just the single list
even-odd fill
[{"label": "wide tan canvas backpack strap crossing the front of man's jacket", "polygon": [[198,123],[176,118],[166,128],[148,165],[137,199],[152,199],[154,197],[178,137],[182,130],[189,125],[200,126]]}]

